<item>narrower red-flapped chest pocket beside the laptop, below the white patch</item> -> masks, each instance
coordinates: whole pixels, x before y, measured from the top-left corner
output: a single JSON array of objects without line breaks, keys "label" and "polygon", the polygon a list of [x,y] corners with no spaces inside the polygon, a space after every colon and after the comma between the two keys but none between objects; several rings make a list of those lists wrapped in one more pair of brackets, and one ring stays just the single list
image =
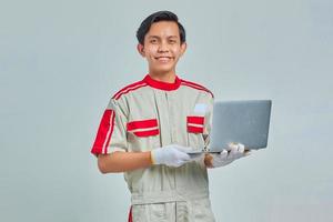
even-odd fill
[{"label": "narrower red-flapped chest pocket beside the laptop, below the white patch", "polygon": [[204,115],[188,115],[186,129],[188,129],[188,144],[195,150],[204,149]]}]

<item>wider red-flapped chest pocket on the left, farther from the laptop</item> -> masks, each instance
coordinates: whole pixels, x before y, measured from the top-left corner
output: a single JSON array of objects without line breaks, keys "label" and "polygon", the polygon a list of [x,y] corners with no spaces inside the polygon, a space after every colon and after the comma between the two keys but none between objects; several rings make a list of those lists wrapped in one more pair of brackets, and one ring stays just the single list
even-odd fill
[{"label": "wider red-flapped chest pocket on the left, farther from the laptop", "polygon": [[127,131],[132,151],[148,151],[160,145],[158,119],[130,121]]}]

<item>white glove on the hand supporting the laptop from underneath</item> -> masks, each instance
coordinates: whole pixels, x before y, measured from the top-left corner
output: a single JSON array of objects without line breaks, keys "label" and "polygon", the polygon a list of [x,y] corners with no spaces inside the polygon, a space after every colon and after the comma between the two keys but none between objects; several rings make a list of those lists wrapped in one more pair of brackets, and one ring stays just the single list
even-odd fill
[{"label": "white glove on the hand supporting the laptop from underneath", "polygon": [[[229,152],[228,152],[229,150]],[[245,151],[245,147],[242,143],[229,143],[228,150],[223,150],[221,153],[212,153],[212,165],[213,168],[224,167],[234,160],[251,154],[251,151]]]}]

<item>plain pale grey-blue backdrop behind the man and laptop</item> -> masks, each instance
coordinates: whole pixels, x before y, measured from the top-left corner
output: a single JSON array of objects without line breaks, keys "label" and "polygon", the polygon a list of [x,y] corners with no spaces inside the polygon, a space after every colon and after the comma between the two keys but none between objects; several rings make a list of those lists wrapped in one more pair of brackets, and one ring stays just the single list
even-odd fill
[{"label": "plain pale grey-blue backdrop behind the man and laptop", "polygon": [[123,175],[90,148],[109,98],[148,72],[134,34],[158,10],[186,29],[181,78],[273,100],[269,148],[210,170],[216,221],[332,221],[329,0],[1,1],[0,221],[127,220]]}]

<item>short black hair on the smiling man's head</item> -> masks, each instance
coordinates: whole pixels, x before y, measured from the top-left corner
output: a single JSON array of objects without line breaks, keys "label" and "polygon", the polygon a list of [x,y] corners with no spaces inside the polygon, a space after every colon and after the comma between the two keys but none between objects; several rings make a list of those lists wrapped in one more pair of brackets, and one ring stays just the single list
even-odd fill
[{"label": "short black hair on the smiling man's head", "polygon": [[171,11],[158,11],[149,17],[147,17],[142,23],[140,24],[140,28],[137,31],[137,39],[139,43],[143,44],[144,37],[147,32],[149,32],[149,29],[152,23],[158,21],[174,21],[178,24],[179,28],[179,34],[181,43],[185,42],[185,29],[184,27],[178,21],[178,16]]}]

